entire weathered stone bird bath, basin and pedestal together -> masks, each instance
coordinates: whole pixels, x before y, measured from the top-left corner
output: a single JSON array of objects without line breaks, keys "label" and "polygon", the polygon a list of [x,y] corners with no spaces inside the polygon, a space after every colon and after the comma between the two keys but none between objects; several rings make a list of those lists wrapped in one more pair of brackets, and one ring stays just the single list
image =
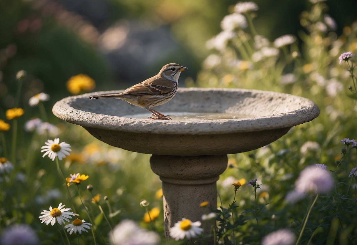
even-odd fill
[{"label": "entire weathered stone bird bath, basin and pedestal together", "polygon": [[174,120],[145,119],[149,113],[140,118],[144,109],[119,99],[88,98],[119,92],[67,97],[52,111],[107,144],[152,154],[151,169],[162,180],[166,238],[182,218],[201,220],[206,212],[201,202],[216,209],[216,181],[227,167],[227,154],[265,146],[320,113],[303,97],[260,90],[179,89],[174,99],[157,107]]}]

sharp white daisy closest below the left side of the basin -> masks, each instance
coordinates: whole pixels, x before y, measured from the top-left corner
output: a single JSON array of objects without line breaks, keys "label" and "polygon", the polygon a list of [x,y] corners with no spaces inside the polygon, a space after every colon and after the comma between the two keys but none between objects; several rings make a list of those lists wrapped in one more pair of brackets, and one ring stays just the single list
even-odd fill
[{"label": "sharp white daisy closest below the left side of the basin", "polygon": [[66,142],[60,143],[59,138],[56,138],[55,140],[47,140],[45,144],[46,145],[41,147],[41,152],[45,152],[42,157],[48,155],[48,157],[54,161],[56,156],[58,156],[58,159],[62,160],[62,158],[70,154],[69,151],[71,151],[71,145]]}]

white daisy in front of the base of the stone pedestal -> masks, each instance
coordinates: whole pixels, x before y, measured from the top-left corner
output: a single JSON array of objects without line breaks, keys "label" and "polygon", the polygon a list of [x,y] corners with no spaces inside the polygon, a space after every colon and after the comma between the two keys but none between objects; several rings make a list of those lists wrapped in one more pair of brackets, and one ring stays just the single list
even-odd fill
[{"label": "white daisy in front of the base of the stone pedestal", "polygon": [[199,226],[201,226],[200,221],[192,223],[191,220],[182,218],[182,220],[178,221],[173,227],[170,228],[169,233],[170,236],[176,241],[180,239],[182,240],[185,237],[187,239],[191,239],[202,234],[203,229]]}]

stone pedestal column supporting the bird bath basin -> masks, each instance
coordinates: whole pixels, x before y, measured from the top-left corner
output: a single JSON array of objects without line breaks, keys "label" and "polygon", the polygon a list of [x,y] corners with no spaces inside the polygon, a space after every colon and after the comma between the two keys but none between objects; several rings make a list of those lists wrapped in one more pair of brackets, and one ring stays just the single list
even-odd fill
[{"label": "stone pedestal column supporting the bird bath basin", "polygon": [[[162,180],[166,238],[169,238],[169,228],[182,218],[192,222],[200,220],[203,226],[202,214],[216,210],[216,181],[226,169],[227,161],[227,155],[152,155],[151,169]],[[204,201],[208,201],[208,206],[200,207]],[[205,244],[213,244],[213,241]]]}]

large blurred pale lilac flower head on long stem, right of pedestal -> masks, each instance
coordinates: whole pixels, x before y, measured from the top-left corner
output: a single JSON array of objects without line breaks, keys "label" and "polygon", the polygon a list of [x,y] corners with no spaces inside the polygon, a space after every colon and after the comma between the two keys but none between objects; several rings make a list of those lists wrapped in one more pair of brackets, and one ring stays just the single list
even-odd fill
[{"label": "large blurred pale lilac flower head on long stem, right of pedestal", "polygon": [[333,187],[333,178],[326,169],[312,165],[301,171],[295,185],[298,192],[327,194]]}]

